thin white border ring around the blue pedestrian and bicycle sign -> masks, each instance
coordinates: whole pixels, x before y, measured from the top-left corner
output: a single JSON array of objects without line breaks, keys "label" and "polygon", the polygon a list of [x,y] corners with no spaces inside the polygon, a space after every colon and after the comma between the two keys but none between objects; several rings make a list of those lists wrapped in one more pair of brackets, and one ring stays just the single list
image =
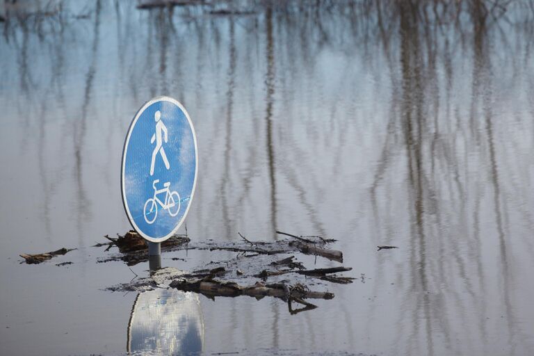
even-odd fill
[{"label": "thin white border ring around the blue pedestrian and bicycle sign", "polygon": [[[189,199],[189,204],[187,204],[187,209],[184,212],[184,216],[181,217],[181,220],[176,225],[174,229],[172,229],[172,232],[170,232],[168,235],[160,237],[160,238],[153,238],[151,236],[147,236],[147,234],[143,233],[141,229],[136,225],[136,222],[133,220],[133,217],[131,216],[130,209],[128,207],[128,202],[126,200],[126,191],[124,189],[124,165],[126,164],[126,154],[128,150],[128,143],[130,141],[131,131],[133,130],[133,127],[136,126],[136,122],[139,119],[140,115],[145,111],[145,109],[156,103],[156,102],[171,102],[172,104],[175,104],[178,106],[182,112],[186,115],[187,121],[189,122],[189,127],[191,127],[191,131],[193,132],[193,142],[195,143],[195,179],[193,180],[193,189],[191,190],[191,198]],[[150,242],[163,242],[170,238],[175,232],[177,232],[177,229],[181,226],[182,223],[184,223],[184,220],[186,219],[187,213],[189,211],[189,208],[191,208],[191,203],[193,202],[193,195],[195,195],[195,187],[197,186],[197,172],[198,172],[198,149],[197,149],[197,134],[195,133],[195,127],[193,127],[193,122],[191,122],[191,118],[189,118],[189,114],[186,111],[186,108],[180,102],[178,102],[176,99],[172,99],[172,97],[155,97],[154,99],[149,100],[146,102],[136,113],[136,116],[131,121],[130,127],[128,128],[128,134],[126,136],[126,140],[124,140],[124,147],[122,147],[122,164],[120,165],[120,190],[122,192],[122,205],[124,205],[124,210],[126,211],[126,215],[128,216],[128,220],[130,220],[130,224],[133,227],[138,234],[143,236],[145,239],[147,239]]]}]

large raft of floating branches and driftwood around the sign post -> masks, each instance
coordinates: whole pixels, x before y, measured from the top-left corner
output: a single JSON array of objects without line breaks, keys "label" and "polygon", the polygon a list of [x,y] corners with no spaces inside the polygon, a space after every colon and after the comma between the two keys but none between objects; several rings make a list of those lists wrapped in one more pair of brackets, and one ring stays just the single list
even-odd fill
[{"label": "large raft of floating branches and driftwood around the sign post", "polygon": [[[233,243],[215,243],[204,241],[188,243],[189,239],[175,241],[167,247],[167,251],[175,250],[223,250],[238,252],[229,260],[210,261],[211,268],[201,267],[193,272],[184,272],[168,267],[152,271],[150,277],[132,280],[129,283],[109,287],[110,291],[149,291],[155,288],[173,288],[180,291],[191,291],[203,294],[208,298],[251,296],[254,298],[281,298],[288,303],[289,312],[296,314],[305,310],[315,309],[316,305],[307,299],[332,299],[334,294],[329,291],[311,291],[307,286],[309,279],[318,279],[331,283],[352,283],[353,277],[336,275],[348,272],[350,267],[335,266],[328,268],[307,269],[298,261],[295,252],[316,254],[331,261],[342,261],[341,251],[326,247],[327,241],[319,236],[294,236],[285,234],[297,241],[250,241],[242,234],[242,241]],[[128,265],[147,260],[147,251],[138,250],[140,236],[129,232],[113,241],[123,252],[104,261],[123,260]],[[131,239],[131,242],[128,240]],[[306,241],[303,241],[305,239]],[[144,241],[143,241],[144,242]],[[129,246],[124,248],[124,246]],[[162,250],[164,245],[162,244]],[[124,252],[131,250],[131,252]],[[252,252],[252,254],[250,254]],[[289,257],[277,257],[278,254],[293,253]],[[173,258],[174,260],[175,258]],[[204,265],[206,266],[206,265]],[[283,279],[282,279],[283,277]],[[269,280],[269,282],[267,282]],[[293,303],[293,304],[292,304]],[[294,309],[294,303],[303,307]]]}]

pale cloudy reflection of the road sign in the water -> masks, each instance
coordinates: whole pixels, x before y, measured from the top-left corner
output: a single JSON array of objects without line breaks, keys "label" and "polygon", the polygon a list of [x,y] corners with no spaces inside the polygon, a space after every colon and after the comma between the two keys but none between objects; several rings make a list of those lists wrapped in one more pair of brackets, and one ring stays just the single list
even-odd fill
[{"label": "pale cloudy reflection of the road sign in the water", "polygon": [[128,353],[202,353],[204,318],[197,294],[175,289],[139,293],[131,310],[127,337]]}]

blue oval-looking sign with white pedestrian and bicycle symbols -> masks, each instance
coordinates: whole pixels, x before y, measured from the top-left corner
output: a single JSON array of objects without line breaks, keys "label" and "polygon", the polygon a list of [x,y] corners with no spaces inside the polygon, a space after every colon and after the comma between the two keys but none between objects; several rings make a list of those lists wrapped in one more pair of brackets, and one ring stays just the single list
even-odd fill
[{"label": "blue oval-looking sign with white pedestrian and bicycle symbols", "polygon": [[122,202],[133,229],[152,242],[172,236],[186,218],[197,182],[191,118],[170,97],[136,113],[122,151]]}]

